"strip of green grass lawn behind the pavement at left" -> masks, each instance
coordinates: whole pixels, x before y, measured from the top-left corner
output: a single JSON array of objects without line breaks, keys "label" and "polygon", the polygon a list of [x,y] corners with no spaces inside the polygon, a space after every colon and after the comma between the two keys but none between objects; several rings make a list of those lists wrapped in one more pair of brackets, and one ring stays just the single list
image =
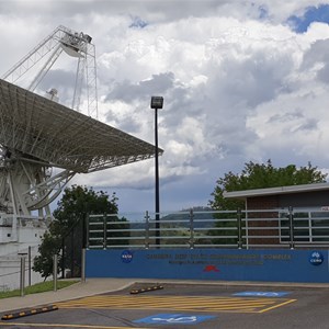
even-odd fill
[{"label": "strip of green grass lawn behind the pavement at left", "polygon": [[[79,282],[79,280],[58,280],[57,281],[57,290],[61,290],[64,287],[67,287],[71,284],[75,284]],[[46,281],[33,284],[31,286],[26,286],[24,290],[25,295],[30,294],[37,294],[37,293],[44,293],[44,292],[50,292],[54,290],[54,281]],[[1,298],[9,298],[9,297],[16,297],[21,296],[20,290],[9,291],[9,292],[0,292],[0,299]]]}]

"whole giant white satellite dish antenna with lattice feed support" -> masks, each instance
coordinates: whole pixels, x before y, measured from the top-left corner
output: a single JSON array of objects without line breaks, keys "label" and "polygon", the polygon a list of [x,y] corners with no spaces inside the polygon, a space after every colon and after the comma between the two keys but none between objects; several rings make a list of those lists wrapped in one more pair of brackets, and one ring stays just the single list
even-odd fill
[{"label": "whole giant white satellite dish antenna with lattice feed support", "polygon": [[[78,60],[71,109],[58,103],[56,89],[46,97],[34,92],[63,53]],[[45,57],[29,87],[19,87],[19,80]],[[83,78],[88,115],[79,112]],[[76,173],[162,152],[97,116],[95,50],[82,32],[58,26],[0,79],[0,225],[9,218],[12,229],[0,242],[18,241],[21,222],[31,218],[33,211],[38,218],[50,217],[49,204]]]}]

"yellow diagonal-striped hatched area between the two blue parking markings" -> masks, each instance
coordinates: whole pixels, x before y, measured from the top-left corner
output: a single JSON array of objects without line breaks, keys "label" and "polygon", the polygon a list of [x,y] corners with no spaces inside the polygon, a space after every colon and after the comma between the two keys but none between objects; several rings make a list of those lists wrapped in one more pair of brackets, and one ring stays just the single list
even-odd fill
[{"label": "yellow diagonal-striped hatched area between the two blue parking markings", "polygon": [[57,303],[58,308],[174,309],[186,311],[264,313],[296,299],[213,296],[102,295]]}]

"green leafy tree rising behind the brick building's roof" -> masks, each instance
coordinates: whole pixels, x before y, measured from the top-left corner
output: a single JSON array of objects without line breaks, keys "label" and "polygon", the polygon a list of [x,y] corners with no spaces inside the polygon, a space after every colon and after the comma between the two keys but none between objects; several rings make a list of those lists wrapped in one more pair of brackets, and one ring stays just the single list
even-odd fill
[{"label": "green leafy tree rising behind the brick building's roof", "polygon": [[326,182],[327,174],[313,167],[310,162],[306,167],[297,168],[295,164],[288,164],[284,168],[274,168],[271,160],[266,163],[254,163],[252,161],[245,163],[240,174],[234,174],[231,171],[224,178],[217,180],[217,185],[212,193],[213,200],[209,205],[213,209],[230,211],[243,207],[243,202],[225,198],[224,191],[243,191],[253,189],[266,189],[287,185],[299,185],[310,183]]}]

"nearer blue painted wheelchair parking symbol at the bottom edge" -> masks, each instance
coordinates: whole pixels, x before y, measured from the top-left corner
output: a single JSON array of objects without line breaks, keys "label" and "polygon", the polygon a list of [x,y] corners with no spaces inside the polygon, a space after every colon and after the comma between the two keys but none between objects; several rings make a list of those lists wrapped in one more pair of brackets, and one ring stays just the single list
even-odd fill
[{"label": "nearer blue painted wheelchair parking symbol at the bottom edge", "polygon": [[158,325],[196,325],[215,316],[201,316],[188,314],[157,314],[147,318],[133,321],[134,324],[158,324]]}]

